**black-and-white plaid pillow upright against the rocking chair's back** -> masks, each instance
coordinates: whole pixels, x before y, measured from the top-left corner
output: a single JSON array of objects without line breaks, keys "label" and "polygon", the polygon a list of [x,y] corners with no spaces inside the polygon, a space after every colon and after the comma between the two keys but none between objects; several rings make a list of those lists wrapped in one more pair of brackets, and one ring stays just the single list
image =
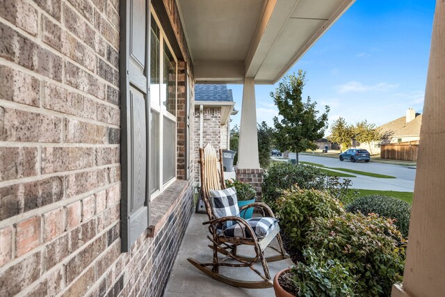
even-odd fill
[{"label": "black-and-white plaid pillow upright against the rocking chair's back", "polygon": [[[210,195],[213,214],[215,214],[217,218],[239,216],[238,199],[236,198],[236,190],[234,187],[218,191],[210,190]],[[225,227],[231,226],[232,223],[232,221],[227,221]]]}]

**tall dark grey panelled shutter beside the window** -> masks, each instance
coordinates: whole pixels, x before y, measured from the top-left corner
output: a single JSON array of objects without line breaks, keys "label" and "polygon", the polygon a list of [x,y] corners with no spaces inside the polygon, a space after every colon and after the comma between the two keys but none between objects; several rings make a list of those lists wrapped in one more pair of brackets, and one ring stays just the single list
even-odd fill
[{"label": "tall dark grey panelled shutter beside the window", "polygon": [[121,236],[130,250],[149,223],[149,1],[120,1]]}]

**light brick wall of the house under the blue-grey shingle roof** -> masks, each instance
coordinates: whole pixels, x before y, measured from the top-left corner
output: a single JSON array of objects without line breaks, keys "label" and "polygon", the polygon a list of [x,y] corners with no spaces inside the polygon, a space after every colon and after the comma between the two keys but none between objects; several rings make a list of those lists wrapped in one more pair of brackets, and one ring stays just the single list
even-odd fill
[{"label": "light brick wall of the house under the blue-grey shingle roof", "polygon": [[[202,117],[202,130],[200,131]],[[219,150],[221,148],[221,108],[220,107],[205,107],[200,113],[200,107],[195,107],[195,182],[200,182],[200,138],[202,133],[202,146],[207,143]]]}]

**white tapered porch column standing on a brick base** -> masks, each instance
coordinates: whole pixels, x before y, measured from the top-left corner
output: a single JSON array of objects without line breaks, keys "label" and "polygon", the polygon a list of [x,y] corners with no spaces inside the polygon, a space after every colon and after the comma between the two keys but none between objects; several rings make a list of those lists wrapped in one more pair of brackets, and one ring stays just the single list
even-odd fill
[{"label": "white tapered porch column standing on a brick base", "polygon": [[258,169],[257,105],[255,102],[254,79],[245,78],[241,127],[238,144],[238,169]]}]

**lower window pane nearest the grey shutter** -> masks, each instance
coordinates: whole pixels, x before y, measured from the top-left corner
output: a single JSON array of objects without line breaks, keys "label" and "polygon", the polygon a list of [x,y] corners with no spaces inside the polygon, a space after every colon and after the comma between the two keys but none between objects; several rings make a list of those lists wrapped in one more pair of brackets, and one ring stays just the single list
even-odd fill
[{"label": "lower window pane nearest the grey shutter", "polygon": [[150,120],[150,195],[159,190],[159,113],[152,111]]}]

